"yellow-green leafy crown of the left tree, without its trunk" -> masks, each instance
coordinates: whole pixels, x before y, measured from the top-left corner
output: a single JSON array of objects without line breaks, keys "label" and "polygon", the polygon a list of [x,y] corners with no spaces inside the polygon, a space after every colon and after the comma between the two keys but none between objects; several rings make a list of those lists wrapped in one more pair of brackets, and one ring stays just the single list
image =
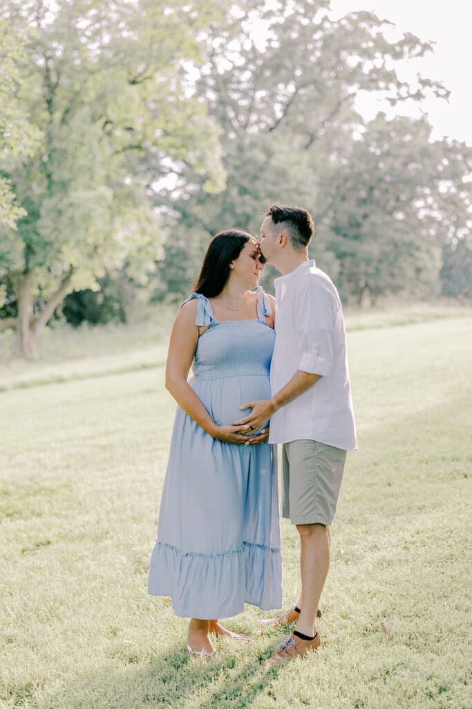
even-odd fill
[{"label": "yellow-green leafy crown of the left tree, without its trunk", "polygon": [[37,22],[25,19],[33,36],[41,30],[30,55],[30,108],[45,138],[34,160],[11,164],[28,204],[18,225],[25,248],[11,265],[37,268],[43,289],[71,266],[75,286],[96,286],[105,268],[122,267],[132,253],[149,265],[159,245],[130,155],[155,151],[197,173],[217,169],[214,131],[202,104],[184,98],[179,68],[199,56],[198,28],[189,25],[195,7],[186,17],[146,2],[105,9],[83,1],[60,6],[52,21],[41,7]]}]

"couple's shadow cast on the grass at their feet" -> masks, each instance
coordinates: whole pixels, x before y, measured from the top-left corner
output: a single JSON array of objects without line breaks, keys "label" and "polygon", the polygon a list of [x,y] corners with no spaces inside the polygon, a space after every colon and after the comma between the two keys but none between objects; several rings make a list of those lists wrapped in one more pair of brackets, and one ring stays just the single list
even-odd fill
[{"label": "couple's shadow cast on the grass at their feet", "polygon": [[[38,709],[239,709],[250,707],[277,676],[264,664],[273,642],[260,652],[228,642],[217,657],[192,657],[183,649],[152,656],[141,663],[102,666],[35,697]],[[14,698],[13,698],[14,700]],[[13,706],[22,705],[13,703]]]}]

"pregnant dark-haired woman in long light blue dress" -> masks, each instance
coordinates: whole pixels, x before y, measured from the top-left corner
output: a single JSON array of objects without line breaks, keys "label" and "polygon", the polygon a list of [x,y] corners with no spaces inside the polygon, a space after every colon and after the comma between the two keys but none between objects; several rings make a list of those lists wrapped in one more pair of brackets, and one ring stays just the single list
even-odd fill
[{"label": "pregnant dark-haired woman in long light blue dress", "polygon": [[178,409],[149,593],[171,596],[175,614],[190,618],[192,654],[214,654],[212,634],[244,639],[218,622],[244,603],[282,604],[277,453],[268,422],[231,425],[241,403],[270,398],[273,306],[253,291],[264,268],[251,235],[217,234],[169,344],[166,387]]}]

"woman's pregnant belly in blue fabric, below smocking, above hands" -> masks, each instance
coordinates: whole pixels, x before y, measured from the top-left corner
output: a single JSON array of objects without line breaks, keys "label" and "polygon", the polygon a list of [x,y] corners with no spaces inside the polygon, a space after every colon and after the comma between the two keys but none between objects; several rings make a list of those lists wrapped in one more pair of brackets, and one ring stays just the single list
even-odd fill
[{"label": "woman's pregnant belly in blue fabric, below smocking, above hands", "polygon": [[190,385],[218,425],[231,425],[251,409],[241,411],[243,403],[270,398],[268,376],[229,376],[225,379],[193,379]]}]

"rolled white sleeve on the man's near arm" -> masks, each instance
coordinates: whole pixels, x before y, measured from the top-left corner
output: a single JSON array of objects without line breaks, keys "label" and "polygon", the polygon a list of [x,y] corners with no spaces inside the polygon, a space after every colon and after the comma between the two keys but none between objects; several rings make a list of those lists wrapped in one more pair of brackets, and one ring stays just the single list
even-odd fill
[{"label": "rolled white sleeve on the man's near arm", "polygon": [[333,371],[333,295],[322,284],[313,283],[300,289],[297,296],[298,369],[329,376]]}]

